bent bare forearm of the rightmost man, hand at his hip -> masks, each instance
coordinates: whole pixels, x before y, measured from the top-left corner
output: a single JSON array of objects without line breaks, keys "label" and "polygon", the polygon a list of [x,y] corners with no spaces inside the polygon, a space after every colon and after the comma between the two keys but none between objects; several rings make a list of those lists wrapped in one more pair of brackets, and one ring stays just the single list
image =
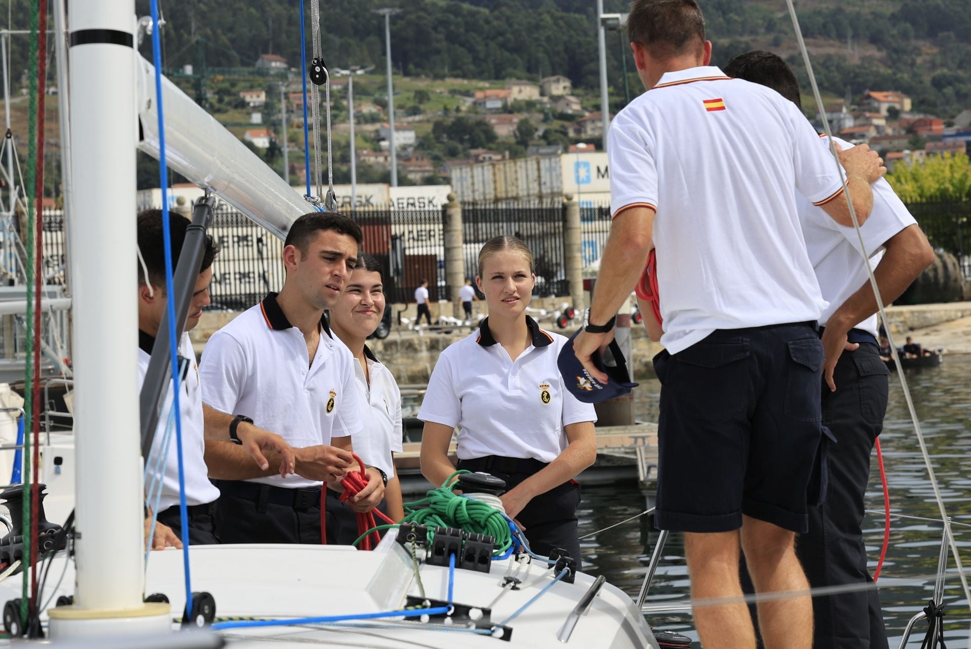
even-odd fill
[{"label": "bent bare forearm of the rightmost man, hand at his hip", "polygon": [[[887,250],[873,274],[877,280],[880,295],[887,305],[900,297],[904,290],[917,279],[924,268],[934,260],[934,251],[927,243],[920,226],[914,224],[904,228],[887,241]],[[877,298],[869,282],[856,290],[833,313],[827,325],[840,326],[846,330],[863,322],[878,311]]]}]

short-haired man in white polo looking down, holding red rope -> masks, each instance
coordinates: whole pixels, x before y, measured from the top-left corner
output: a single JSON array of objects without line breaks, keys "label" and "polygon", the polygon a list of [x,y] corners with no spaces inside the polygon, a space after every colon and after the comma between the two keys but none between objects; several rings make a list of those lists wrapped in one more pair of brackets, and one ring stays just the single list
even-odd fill
[{"label": "short-haired man in white polo looking down, holding red rope", "polygon": [[[321,485],[340,489],[345,472],[359,470],[350,437],[362,429],[355,360],[331,335],[323,312],[344,289],[362,240],[357,223],[340,214],[297,219],[286,233],[283,290],[268,293],[206,345],[205,402],[237,422],[279,431],[296,461],[295,474],[284,478],[275,458],[256,470],[229,443],[207,453],[219,478],[223,543],[320,543]],[[357,511],[385,494],[381,469],[368,467],[366,474],[367,486],[353,499]],[[329,515],[327,523],[336,531]]]}]

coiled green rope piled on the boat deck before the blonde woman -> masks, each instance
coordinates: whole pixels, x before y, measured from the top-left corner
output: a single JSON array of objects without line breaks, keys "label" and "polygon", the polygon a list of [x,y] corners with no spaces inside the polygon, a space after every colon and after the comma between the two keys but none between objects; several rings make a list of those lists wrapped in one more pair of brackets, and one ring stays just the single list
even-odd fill
[{"label": "coiled green rope piled on the boat deck before the blonde woman", "polygon": [[[404,506],[407,513],[401,522],[416,523],[427,528],[429,544],[434,538],[435,528],[460,528],[468,532],[492,536],[497,546],[492,554],[501,555],[513,545],[513,533],[509,529],[506,517],[501,511],[485,502],[457,495],[453,491],[457,484],[452,482],[455,476],[468,472],[464,469],[455,471],[441,487],[431,490],[420,500],[406,502]],[[397,525],[381,525],[374,529],[397,527]],[[353,545],[357,545],[374,529],[368,529],[353,542]]]}]

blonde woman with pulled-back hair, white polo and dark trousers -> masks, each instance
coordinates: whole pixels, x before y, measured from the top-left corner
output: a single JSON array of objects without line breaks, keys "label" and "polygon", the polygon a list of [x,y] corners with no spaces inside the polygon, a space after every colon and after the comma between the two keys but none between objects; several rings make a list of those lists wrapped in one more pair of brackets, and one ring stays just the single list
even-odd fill
[{"label": "blonde woman with pulled-back hair, white polo and dark trousers", "polygon": [[596,459],[596,415],[563,385],[557,357],[567,338],[526,315],[535,282],[533,256],[521,240],[503,235],[483,246],[476,283],[488,317],[435,363],[419,410],[421,473],[435,486],[456,467],[502,478],[503,507],[531,549],[546,556],[562,548],[579,565],[574,478]]}]

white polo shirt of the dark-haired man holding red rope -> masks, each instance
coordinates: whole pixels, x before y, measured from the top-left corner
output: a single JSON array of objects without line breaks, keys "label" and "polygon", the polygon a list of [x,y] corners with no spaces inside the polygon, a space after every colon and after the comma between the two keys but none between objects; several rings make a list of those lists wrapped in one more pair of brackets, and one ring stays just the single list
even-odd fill
[{"label": "white polo shirt of the dark-haired man holding red rope", "polygon": [[[351,351],[320,332],[311,363],[300,329],[290,325],[271,292],[223,326],[202,355],[202,398],[213,408],[246,415],[294,448],[330,444],[331,437],[361,430],[360,401]],[[277,487],[320,483],[299,475],[255,478]]]}]

